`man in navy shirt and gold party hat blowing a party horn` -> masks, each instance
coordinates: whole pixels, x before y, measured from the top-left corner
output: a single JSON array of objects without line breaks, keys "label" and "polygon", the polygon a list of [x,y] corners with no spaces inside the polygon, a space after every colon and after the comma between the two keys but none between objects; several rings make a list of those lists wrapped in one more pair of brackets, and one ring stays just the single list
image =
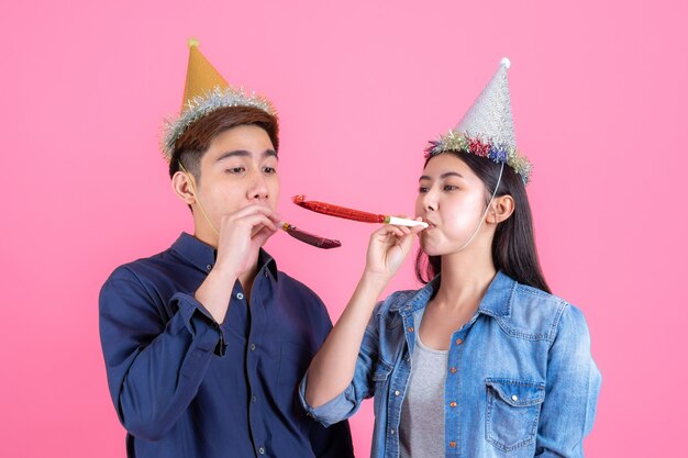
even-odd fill
[{"label": "man in navy shirt and gold party hat blowing a party horn", "polygon": [[332,324],[263,250],[278,231],[271,104],[229,87],[190,42],[185,104],[163,149],[193,236],[114,270],[100,335],[129,457],[353,457],[297,386]]}]

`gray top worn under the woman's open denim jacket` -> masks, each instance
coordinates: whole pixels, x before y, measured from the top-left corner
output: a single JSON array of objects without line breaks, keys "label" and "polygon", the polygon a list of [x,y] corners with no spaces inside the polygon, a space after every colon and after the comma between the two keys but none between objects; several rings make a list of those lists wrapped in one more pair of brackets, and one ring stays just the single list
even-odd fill
[{"label": "gray top worn under the woman's open denim jacket", "polygon": [[[413,316],[418,329],[423,311],[419,312]],[[399,423],[400,458],[444,456],[444,381],[447,357],[447,350],[424,346],[420,331],[415,333],[411,376]]]}]

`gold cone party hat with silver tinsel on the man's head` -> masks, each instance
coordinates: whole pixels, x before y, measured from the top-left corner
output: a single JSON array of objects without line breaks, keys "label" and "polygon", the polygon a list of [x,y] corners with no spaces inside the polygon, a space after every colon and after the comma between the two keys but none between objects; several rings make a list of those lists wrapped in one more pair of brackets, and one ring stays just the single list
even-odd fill
[{"label": "gold cone party hat with silver tinsel on the man's head", "polygon": [[179,115],[165,120],[160,149],[171,160],[177,138],[196,121],[215,110],[228,107],[253,107],[277,118],[273,103],[254,92],[233,88],[198,48],[198,41],[189,40],[189,64]]}]

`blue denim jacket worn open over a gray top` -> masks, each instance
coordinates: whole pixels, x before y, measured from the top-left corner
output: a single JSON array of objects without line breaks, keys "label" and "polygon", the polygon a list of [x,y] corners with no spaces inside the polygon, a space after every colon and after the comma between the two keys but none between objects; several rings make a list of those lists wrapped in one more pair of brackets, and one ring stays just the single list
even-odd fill
[{"label": "blue denim jacket worn open over a gray top", "polygon": [[[332,401],[306,402],[329,426],[374,396],[374,458],[399,457],[401,404],[422,310],[440,286],[399,291],[375,308],[351,384]],[[452,335],[444,386],[446,457],[582,457],[601,376],[581,312],[498,272],[480,305]],[[440,435],[439,435],[440,437]]]}]

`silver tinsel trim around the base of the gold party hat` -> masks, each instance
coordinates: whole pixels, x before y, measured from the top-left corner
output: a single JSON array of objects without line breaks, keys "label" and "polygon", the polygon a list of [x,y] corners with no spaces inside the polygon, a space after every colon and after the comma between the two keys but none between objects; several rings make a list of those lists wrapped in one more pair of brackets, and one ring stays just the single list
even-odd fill
[{"label": "silver tinsel trim around the base of the gold party hat", "polygon": [[206,92],[202,97],[196,96],[193,99],[188,100],[178,118],[173,116],[165,120],[160,148],[167,161],[171,160],[177,138],[191,124],[215,110],[228,107],[254,107],[273,116],[277,116],[277,111],[275,111],[273,103],[262,96],[255,93],[246,94],[241,88],[228,87],[222,89],[217,87],[212,91]]}]

